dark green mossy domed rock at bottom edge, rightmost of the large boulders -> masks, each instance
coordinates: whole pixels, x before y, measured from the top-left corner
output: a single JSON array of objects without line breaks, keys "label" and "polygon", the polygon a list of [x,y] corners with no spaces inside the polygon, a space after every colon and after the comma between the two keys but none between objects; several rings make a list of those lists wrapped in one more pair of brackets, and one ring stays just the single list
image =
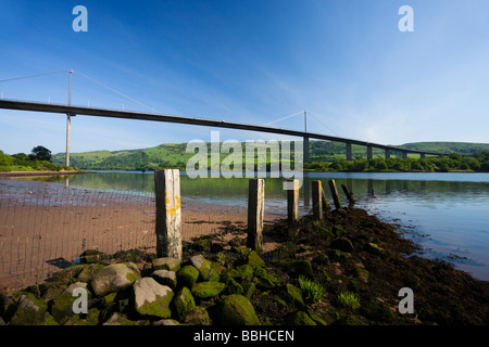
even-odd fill
[{"label": "dark green mossy domed rock at bottom edge, rightmost of the large boulders", "polygon": [[242,295],[226,296],[216,309],[216,323],[223,325],[259,325],[253,305]]}]

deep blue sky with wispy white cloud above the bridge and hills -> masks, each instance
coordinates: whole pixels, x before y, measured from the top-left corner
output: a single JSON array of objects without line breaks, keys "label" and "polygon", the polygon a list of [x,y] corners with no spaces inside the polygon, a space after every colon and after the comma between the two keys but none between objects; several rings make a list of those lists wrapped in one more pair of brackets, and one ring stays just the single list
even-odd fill
[{"label": "deep blue sky with wispy white cloud above the bridge and hills", "polygon": [[[75,5],[88,31],[75,33]],[[401,5],[414,31],[401,33]],[[0,79],[74,69],[158,113],[377,143],[489,142],[489,1],[0,2]],[[67,102],[68,73],[0,82],[1,98]],[[73,75],[72,104],[151,112]],[[318,121],[319,119],[321,121]],[[303,129],[300,115],[273,124]],[[327,127],[325,127],[325,125]],[[71,152],[210,141],[211,128],[77,116]],[[221,140],[281,139],[221,130]],[[64,152],[65,116],[0,110],[0,150]]]}]

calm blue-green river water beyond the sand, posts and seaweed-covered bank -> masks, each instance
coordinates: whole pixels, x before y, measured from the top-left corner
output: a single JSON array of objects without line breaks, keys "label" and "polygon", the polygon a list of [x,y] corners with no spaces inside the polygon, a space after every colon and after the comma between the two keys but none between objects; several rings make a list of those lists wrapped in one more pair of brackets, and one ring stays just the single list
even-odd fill
[{"label": "calm blue-green river water beyond the sand, posts and seaweed-covered bank", "polygon": [[[489,174],[306,172],[300,190],[301,215],[311,208],[311,181],[321,180],[327,189],[329,179],[335,179],[338,188],[347,184],[354,193],[356,206],[384,221],[400,224],[403,234],[423,247],[423,256],[448,260],[479,280],[489,280]],[[59,177],[42,180],[64,182]],[[99,171],[75,176],[68,184],[152,192],[153,175]],[[181,198],[246,207],[248,180],[190,179],[181,175]],[[266,178],[265,209],[286,216],[283,179]]]}]

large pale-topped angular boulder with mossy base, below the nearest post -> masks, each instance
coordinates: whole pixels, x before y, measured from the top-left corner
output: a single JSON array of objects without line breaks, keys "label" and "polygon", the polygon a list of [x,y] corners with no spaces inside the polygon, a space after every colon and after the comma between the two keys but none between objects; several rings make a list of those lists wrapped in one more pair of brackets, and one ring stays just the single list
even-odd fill
[{"label": "large pale-topped angular boulder with mossy base, below the nearest post", "polygon": [[145,318],[170,318],[172,311],[170,303],[174,296],[173,291],[159,284],[152,278],[142,278],[133,284],[134,308]]}]

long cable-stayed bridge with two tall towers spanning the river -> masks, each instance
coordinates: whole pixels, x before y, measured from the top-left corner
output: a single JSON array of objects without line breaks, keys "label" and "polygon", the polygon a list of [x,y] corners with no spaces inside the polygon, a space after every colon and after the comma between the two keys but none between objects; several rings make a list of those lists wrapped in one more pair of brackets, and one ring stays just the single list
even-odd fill
[{"label": "long cable-stayed bridge with two tall towers spanning the river", "polygon": [[[424,158],[426,155],[442,155],[443,154],[443,153],[438,153],[438,152],[404,149],[401,146],[393,146],[393,145],[373,143],[373,142],[367,142],[367,141],[362,141],[362,140],[348,139],[348,138],[343,138],[343,137],[339,137],[339,136],[330,136],[330,134],[324,134],[324,133],[310,132],[310,131],[308,131],[308,112],[303,112],[303,114],[304,114],[304,131],[301,131],[301,130],[269,127],[269,125],[273,123],[276,123],[278,120],[284,120],[284,119],[292,117],[292,116],[297,116],[299,113],[287,116],[285,118],[280,118],[280,119],[271,121],[265,125],[250,125],[250,124],[233,123],[233,121],[226,121],[226,120],[213,120],[213,119],[204,119],[204,118],[196,118],[196,117],[164,115],[164,114],[159,114],[159,113],[154,113],[154,112],[143,113],[143,112],[109,110],[109,108],[99,108],[99,107],[74,106],[71,104],[71,85],[72,85],[72,75],[74,73],[74,70],[72,70],[72,69],[2,79],[2,80],[0,80],[0,82],[23,79],[23,78],[45,76],[45,75],[49,75],[49,74],[58,74],[58,73],[63,73],[63,72],[70,73],[67,104],[52,104],[52,103],[0,99],[0,108],[14,110],[14,111],[41,112],[41,113],[57,113],[57,114],[66,115],[66,166],[70,166],[70,131],[71,131],[70,119],[72,116],[75,116],[75,115],[110,117],[110,118],[121,118],[121,119],[138,119],[138,120],[150,120],[150,121],[164,121],[164,123],[186,124],[186,125],[193,125],[193,126],[227,128],[227,129],[258,131],[258,132],[285,134],[285,136],[290,136],[290,137],[299,137],[299,138],[303,139],[304,163],[309,163],[309,160],[310,160],[310,155],[309,155],[310,139],[344,143],[347,160],[352,160],[352,145],[365,146],[367,159],[373,158],[373,149],[384,150],[386,159],[390,158],[390,155],[393,153],[400,153],[401,156],[404,158],[408,157],[409,153],[418,154],[421,158]],[[84,74],[80,74],[80,73],[78,73],[78,74],[92,80],[93,82],[101,85],[104,88],[108,88],[109,90],[112,90],[113,92],[121,94],[124,98],[127,98],[145,107],[151,108],[151,107],[149,107],[127,95],[124,95],[123,93],[116,91],[115,89],[112,89],[112,88],[84,75]],[[154,111],[153,108],[151,108],[151,110]],[[301,114],[302,114],[302,112],[301,112]],[[317,119],[317,120],[319,120],[319,119]]]}]

